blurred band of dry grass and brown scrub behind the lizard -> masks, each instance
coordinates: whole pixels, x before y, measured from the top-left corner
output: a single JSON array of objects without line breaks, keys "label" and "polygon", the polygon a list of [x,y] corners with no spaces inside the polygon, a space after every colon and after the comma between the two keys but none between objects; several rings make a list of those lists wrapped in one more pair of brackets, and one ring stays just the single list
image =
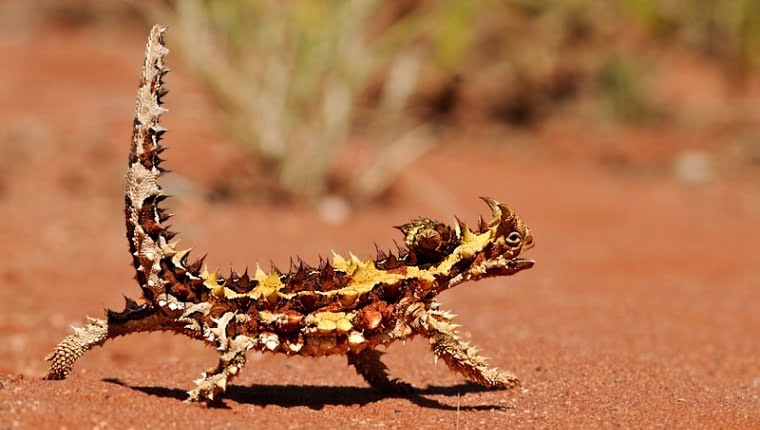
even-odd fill
[{"label": "blurred band of dry grass and brown scrub behind the lizard", "polygon": [[[668,118],[649,73],[668,52],[713,61],[739,86],[760,68],[758,0],[131,7],[172,27],[172,49],[215,97],[225,128],[286,193],[312,199],[381,194],[452,127],[533,127],[587,100],[610,121]],[[341,161],[353,168],[337,172]]]}]

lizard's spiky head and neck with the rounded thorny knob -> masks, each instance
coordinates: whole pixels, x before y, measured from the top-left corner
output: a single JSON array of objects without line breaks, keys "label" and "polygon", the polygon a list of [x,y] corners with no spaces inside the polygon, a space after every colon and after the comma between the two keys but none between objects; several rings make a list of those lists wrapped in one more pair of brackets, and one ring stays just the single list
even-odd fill
[{"label": "lizard's spiky head and neck with the rounded thorny knob", "polygon": [[490,198],[483,200],[493,218],[488,223],[480,219],[474,230],[458,220],[452,227],[425,218],[399,227],[416,265],[448,280],[440,289],[533,267],[533,260],[519,257],[533,247],[530,228],[508,206]]}]

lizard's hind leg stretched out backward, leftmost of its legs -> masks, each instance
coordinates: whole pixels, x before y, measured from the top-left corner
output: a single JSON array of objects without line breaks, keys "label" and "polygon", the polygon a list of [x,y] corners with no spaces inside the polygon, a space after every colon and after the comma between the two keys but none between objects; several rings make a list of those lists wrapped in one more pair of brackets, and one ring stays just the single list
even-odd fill
[{"label": "lizard's hind leg stretched out backward, leftmost of its legs", "polygon": [[66,336],[45,359],[50,370],[45,379],[65,379],[74,363],[85,352],[103,345],[108,339],[141,331],[171,329],[166,317],[159,315],[150,304],[138,305],[126,298],[122,312],[106,311],[106,319],[87,317],[87,325],[75,327],[74,334]]}]

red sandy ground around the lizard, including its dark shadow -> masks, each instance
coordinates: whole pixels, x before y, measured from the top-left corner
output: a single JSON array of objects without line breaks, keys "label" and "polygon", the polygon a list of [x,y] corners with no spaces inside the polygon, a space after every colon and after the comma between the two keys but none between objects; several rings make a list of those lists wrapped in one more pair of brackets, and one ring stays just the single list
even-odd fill
[{"label": "red sandy ground around the lizard, including its dark shadow", "polygon": [[407,169],[392,204],[335,225],[297,205],[203,198],[234,174],[240,149],[220,139],[213,108],[181,71],[168,81],[176,173],[165,183],[183,244],[210,264],[366,256],[418,215],[474,221],[487,212],[480,195],[516,207],[534,231],[536,266],[441,300],[525,388],[468,384],[417,340],[385,360],[417,388],[407,397],[374,393],[339,357],[251,354],[224,407],[208,409],[182,400],[213,351],[166,334],[119,339],[68,380],[41,380],[69,325],[138,294],[122,178],[143,37],[91,36],[0,38],[0,429],[760,428],[757,172],[687,186],[463,139]]}]

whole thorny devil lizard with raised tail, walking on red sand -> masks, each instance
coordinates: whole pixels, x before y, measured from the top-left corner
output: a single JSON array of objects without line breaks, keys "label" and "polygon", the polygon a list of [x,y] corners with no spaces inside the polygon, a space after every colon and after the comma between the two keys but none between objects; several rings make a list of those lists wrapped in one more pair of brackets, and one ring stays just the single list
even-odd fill
[{"label": "whole thorny devil lizard with raised tail, walking on red sand", "polygon": [[345,354],[348,363],[372,387],[408,391],[390,379],[378,346],[420,335],[448,367],[490,388],[512,388],[520,381],[489,368],[478,350],[457,335],[453,315],[440,310],[436,296],[465,281],[513,275],[533,266],[518,258],[533,246],[530,229],[509,207],[484,198],[493,212],[486,223],[469,229],[420,218],[398,227],[404,247],[397,254],[378,251],[374,260],[334,255],[318,267],[300,262],[288,273],[272,269],[253,275],[233,270],[201,270],[188,263],[189,250],[170,242],[175,233],[165,224],[169,214],[158,178],[159,144],[166,129],[159,117],[168,72],[161,26],[153,27],[137,92],[125,215],[129,251],[142,289],[142,300],[126,299],[123,311],[106,309],[105,319],[88,317],[47,359],[47,379],[63,379],[74,362],[108,339],[137,332],[171,331],[202,340],[219,351],[219,364],[203,373],[189,392],[190,401],[219,399],[246,361],[248,350],[319,357]]}]

